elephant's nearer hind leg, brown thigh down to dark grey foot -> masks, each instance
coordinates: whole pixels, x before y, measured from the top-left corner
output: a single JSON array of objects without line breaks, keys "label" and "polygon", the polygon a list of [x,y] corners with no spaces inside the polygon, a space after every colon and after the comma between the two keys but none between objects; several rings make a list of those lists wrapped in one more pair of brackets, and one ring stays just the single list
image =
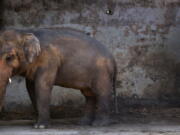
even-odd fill
[{"label": "elephant's nearer hind leg, brown thigh down to dark grey foot", "polygon": [[100,71],[94,82],[94,93],[97,98],[97,109],[94,126],[104,126],[110,124],[110,101],[113,91],[112,80],[108,72]]}]

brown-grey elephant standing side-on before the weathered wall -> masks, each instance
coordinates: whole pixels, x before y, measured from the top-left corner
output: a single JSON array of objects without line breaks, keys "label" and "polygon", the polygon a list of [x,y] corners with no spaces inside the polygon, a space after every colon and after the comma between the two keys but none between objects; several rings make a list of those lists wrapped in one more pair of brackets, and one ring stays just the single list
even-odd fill
[{"label": "brown-grey elephant standing side-on before the weathered wall", "polygon": [[83,125],[107,125],[116,83],[113,55],[95,38],[69,28],[5,29],[0,33],[0,109],[9,78],[25,78],[37,111],[34,128],[50,124],[54,85],[85,96]]}]

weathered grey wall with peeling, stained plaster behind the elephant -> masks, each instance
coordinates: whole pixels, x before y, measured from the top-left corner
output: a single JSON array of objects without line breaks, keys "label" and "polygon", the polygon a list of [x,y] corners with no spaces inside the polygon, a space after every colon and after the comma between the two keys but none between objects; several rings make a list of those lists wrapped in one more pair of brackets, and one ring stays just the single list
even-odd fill
[{"label": "weathered grey wall with peeling, stained plaster behind the elephant", "polygon": [[[179,0],[6,0],[4,7],[5,27],[71,27],[104,43],[117,61],[119,97],[180,97]],[[53,90],[54,105],[82,100],[79,91]],[[29,104],[24,80],[14,79],[6,108]]]}]

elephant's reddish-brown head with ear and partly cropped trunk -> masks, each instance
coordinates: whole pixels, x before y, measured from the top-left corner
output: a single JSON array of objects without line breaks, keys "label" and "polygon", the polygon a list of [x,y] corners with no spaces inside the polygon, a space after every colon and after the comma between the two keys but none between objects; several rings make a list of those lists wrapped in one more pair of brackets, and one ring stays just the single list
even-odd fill
[{"label": "elephant's reddish-brown head with ear and partly cropped trunk", "polygon": [[39,40],[32,33],[6,30],[0,34],[0,111],[9,78],[23,65],[32,63],[40,51]]}]

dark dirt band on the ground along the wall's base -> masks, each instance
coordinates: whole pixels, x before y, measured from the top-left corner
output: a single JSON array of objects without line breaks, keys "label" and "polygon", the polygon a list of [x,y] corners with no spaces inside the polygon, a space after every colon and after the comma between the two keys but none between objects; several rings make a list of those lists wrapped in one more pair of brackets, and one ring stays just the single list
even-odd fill
[{"label": "dark dirt band on the ground along the wall's base", "polygon": [[[82,109],[62,107],[56,108],[56,111],[51,111],[51,118],[56,120],[68,119],[64,121],[69,124],[77,124],[78,119],[83,115]],[[2,112],[0,120],[35,120],[36,114],[34,111],[29,114],[23,112]],[[180,125],[180,107],[124,107],[118,113],[112,113],[111,119],[113,124],[120,123],[177,123]],[[72,121],[71,121],[72,120]],[[76,123],[77,122],[77,123]]]}]

